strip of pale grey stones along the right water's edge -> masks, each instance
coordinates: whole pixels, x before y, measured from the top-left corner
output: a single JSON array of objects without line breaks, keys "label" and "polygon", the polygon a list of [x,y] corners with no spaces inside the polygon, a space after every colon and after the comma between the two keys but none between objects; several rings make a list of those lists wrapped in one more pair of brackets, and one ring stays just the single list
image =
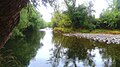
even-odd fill
[{"label": "strip of pale grey stones along the right water's edge", "polygon": [[63,34],[64,36],[76,36],[83,37],[87,39],[92,39],[94,41],[104,42],[107,44],[120,44],[120,34],[92,34],[92,33],[69,33]]}]

